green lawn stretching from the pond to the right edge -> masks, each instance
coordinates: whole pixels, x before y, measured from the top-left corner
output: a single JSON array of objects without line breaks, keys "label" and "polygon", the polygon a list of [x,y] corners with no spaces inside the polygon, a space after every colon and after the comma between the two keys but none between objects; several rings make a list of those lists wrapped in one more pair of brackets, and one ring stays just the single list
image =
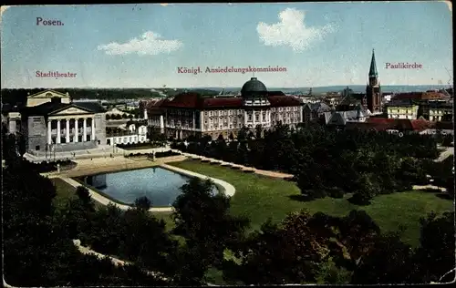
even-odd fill
[{"label": "green lawn stretching from the pond to the right edge", "polygon": [[[420,237],[420,217],[430,211],[439,213],[453,211],[452,201],[443,200],[433,193],[422,191],[381,195],[367,207],[353,205],[347,201],[347,198],[297,201],[293,199],[293,195],[300,195],[300,191],[293,182],[271,179],[196,160],[169,164],[233,184],[236,193],[232,198],[232,212],[235,215],[248,216],[252,221],[253,229],[258,229],[268,217],[273,221],[281,221],[287,213],[303,208],[311,213],[322,211],[334,216],[344,216],[349,211],[358,209],[367,211],[382,231],[396,231],[399,224],[405,225],[407,230],[402,237],[403,241],[416,246]],[[166,218],[166,215],[161,217]]]}]

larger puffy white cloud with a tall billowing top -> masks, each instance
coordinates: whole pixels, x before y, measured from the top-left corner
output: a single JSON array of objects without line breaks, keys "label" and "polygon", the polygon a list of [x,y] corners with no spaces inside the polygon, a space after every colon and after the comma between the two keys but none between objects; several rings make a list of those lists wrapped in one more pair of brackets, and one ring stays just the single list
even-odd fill
[{"label": "larger puffy white cloud with a tall billowing top", "polygon": [[311,44],[335,31],[334,26],[307,27],[305,12],[286,8],[279,14],[280,22],[268,25],[260,22],[256,31],[265,46],[290,46],[295,52],[306,50]]}]

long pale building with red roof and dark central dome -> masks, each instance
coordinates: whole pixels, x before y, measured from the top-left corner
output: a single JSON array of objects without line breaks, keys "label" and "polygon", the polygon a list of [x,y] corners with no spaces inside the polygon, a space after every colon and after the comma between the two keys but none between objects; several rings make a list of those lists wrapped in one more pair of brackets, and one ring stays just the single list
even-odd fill
[{"label": "long pale building with red roof and dark central dome", "polygon": [[209,135],[216,139],[243,127],[272,129],[281,121],[290,127],[303,121],[303,103],[281,91],[268,91],[256,77],[245,82],[239,96],[204,98],[197,93],[182,93],[165,98],[147,109],[148,124],[168,137],[184,139]]}]

